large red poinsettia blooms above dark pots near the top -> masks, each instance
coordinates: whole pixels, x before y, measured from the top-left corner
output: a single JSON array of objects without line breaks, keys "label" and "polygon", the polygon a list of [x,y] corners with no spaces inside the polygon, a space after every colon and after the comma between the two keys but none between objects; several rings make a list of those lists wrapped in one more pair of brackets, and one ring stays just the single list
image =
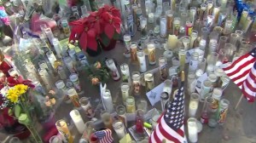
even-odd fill
[{"label": "large red poinsettia blooms above dark pots near the top", "polygon": [[120,13],[118,9],[105,5],[96,12],[91,12],[88,17],[69,23],[72,27],[69,42],[79,40],[82,49],[97,50],[97,40],[105,33],[109,39],[115,32],[120,33]]}]

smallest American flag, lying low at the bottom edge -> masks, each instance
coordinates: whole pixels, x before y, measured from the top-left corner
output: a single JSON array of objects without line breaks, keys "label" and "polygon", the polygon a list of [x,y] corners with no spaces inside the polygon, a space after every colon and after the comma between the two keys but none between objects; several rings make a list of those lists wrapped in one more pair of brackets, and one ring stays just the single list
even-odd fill
[{"label": "smallest American flag, lying low at the bottom edge", "polygon": [[98,140],[100,140],[100,143],[113,142],[112,131],[110,129],[96,131],[95,134]]}]

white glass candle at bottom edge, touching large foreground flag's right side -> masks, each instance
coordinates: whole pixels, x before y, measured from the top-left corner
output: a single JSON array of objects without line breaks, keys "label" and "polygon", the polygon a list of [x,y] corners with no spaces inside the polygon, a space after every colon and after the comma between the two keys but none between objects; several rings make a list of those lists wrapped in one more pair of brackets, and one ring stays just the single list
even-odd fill
[{"label": "white glass candle at bottom edge, touching large foreground flag's right side", "polygon": [[188,132],[189,132],[189,141],[195,143],[198,140],[197,120],[195,117],[189,117],[187,123],[188,123]]}]

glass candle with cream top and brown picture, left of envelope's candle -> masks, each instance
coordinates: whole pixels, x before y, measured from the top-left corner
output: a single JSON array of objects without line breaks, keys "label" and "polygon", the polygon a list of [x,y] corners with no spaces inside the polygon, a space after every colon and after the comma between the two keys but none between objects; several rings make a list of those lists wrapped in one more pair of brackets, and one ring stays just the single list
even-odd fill
[{"label": "glass candle with cream top and brown picture, left of envelope's candle", "polygon": [[141,74],[140,72],[132,72],[132,92],[134,95],[141,93]]}]

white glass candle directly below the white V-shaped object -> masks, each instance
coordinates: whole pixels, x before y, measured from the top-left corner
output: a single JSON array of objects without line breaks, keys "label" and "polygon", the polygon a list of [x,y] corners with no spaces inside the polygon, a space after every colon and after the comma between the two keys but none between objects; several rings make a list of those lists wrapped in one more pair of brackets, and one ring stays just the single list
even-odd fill
[{"label": "white glass candle directly below the white V-shaped object", "polygon": [[106,89],[105,92],[102,93],[102,101],[106,111],[113,112],[113,101],[109,89]]}]

